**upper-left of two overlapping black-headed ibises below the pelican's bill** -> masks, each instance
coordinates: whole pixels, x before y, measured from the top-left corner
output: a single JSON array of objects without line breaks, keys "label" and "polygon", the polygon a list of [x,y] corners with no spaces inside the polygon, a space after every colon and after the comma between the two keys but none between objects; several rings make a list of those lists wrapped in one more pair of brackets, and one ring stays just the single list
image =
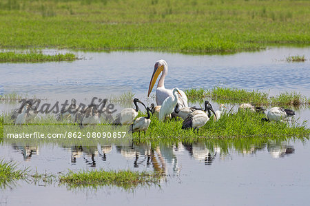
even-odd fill
[{"label": "upper-left of two overlapping black-headed ibises below the pelican's bill", "polygon": [[[114,125],[132,125],[134,122],[134,119],[138,115],[139,107],[137,105],[138,103],[141,103],[144,107],[144,103],[138,99],[134,99],[134,105],[136,106],[136,109],[133,108],[125,108],[120,113],[116,114],[116,119],[114,120]],[[146,108],[146,107],[145,107]]]}]

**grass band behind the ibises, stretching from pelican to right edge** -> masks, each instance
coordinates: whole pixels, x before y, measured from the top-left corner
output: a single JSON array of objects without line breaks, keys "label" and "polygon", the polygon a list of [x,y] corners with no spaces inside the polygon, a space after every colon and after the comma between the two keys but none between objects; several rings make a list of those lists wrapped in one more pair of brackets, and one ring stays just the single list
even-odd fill
[{"label": "grass band behind the ibises, stretching from pelican to right edge", "polygon": [[185,90],[189,101],[211,99],[217,103],[252,103],[254,105],[309,105],[310,100],[300,92],[284,92],[276,96],[269,96],[268,92],[256,90],[214,87],[212,90],[189,89]]}]

